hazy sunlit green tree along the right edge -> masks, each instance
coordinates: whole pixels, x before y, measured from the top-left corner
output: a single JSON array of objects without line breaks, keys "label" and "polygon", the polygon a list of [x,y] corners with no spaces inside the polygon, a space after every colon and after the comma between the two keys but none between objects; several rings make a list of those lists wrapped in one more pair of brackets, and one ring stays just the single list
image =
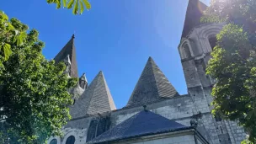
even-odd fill
[{"label": "hazy sunlit green tree along the right edge", "polygon": [[216,79],[213,113],[235,120],[256,142],[256,1],[212,0],[201,19],[226,23],[216,35],[206,73]]}]

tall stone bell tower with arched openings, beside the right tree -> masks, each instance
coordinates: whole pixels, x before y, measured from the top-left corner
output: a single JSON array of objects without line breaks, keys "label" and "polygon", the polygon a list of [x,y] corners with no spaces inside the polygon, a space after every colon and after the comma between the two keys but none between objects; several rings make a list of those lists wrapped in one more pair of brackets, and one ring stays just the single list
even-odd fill
[{"label": "tall stone bell tower with arched openings, beside the right tree", "polygon": [[216,45],[216,34],[223,24],[201,24],[200,18],[207,8],[199,0],[189,0],[184,29],[179,44],[184,77],[189,95],[195,100],[195,105],[200,109],[202,101],[208,109],[200,109],[200,112],[211,112],[211,89],[214,80],[205,74],[208,61],[211,59],[211,51]]}]

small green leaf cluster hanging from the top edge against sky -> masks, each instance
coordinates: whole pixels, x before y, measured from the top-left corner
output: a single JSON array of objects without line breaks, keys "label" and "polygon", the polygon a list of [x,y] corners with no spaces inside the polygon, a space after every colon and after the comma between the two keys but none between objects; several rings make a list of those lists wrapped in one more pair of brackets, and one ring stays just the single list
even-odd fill
[{"label": "small green leaf cluster hanging from the top edge against sky", "polygon": [[85,8],[91,8],[88,0],[47,0],[47,3],[56,3],[56,8],[61,8],[61,5],[63,8],[73,8],[73,14],[82,14]]}]

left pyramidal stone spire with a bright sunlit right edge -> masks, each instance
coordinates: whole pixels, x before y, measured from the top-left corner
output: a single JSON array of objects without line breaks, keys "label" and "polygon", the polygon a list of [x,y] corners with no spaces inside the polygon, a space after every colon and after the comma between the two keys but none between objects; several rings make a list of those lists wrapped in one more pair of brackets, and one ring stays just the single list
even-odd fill
[{"label": "left pyramidal stone spire with a bright sunlit right edge", "polygon": [[76,100],[70,111],[72,118],[82,117],[84,115],[94,115],[115,110],[115,103],[109,91],[109,87],[104,78],[103,72],[99,72],[94,77],[93,82]]}]

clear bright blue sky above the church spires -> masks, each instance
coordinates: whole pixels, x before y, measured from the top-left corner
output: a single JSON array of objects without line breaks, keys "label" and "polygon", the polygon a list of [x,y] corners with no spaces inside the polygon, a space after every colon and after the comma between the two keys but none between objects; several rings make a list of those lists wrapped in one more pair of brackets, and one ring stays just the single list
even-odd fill
[{"label": "clear bright blue sky above the church spires", "polygon": [[[149,56],[174,88],[187,93],[178,45],[189,0],[89,0],[73,15],[46,0],[3,1],[0,10],[40,32],[43,54],[53,59],[75,34],[79,76],[88,83],[104,72],[118,109],[127,104]],[[210,0],[201,0],[209,5]]]}]

